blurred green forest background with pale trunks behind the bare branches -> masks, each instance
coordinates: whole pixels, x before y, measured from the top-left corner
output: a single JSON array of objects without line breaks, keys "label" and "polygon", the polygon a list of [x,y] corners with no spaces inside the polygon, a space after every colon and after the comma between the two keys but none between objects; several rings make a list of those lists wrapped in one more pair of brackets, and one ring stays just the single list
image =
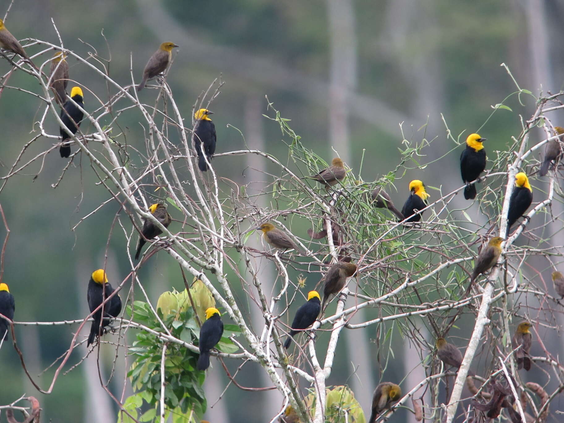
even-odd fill
[{"label": "blurred green forest background with pale trunks behind the bare branches", "polygon": [[[7,5],[7,1],[2,3],[0,15]],[[6,26],[16,38],[29,36],[57,43],[51,18],[65,48],[83,57],[92,48],[100,56],[111,56],[109,73],[123,85],[131,83],[130,60],[138,83],[144,64],[162,41],[180,45],[167,81],[186,126],[190,126],[197,97],[221,76],[225,85],[210,106],[215,112],[217,152],[244,148],[239,133],[227,127],[233,125],[243,131],[250,147],[262,148],[282,160],[287,157],[279,127],[261,116],[266,113],[267,95],[283,117],[292,119],[290,125],[302,136],[305,146],[327,161],[334,156],[334,148],[358,171],[364,155],[364,180],[380,177],[398,162],[402,122],[408,140],[437,138],[426,150],[424,162],[455,147],[447,140],[441,113],[455,138],[466,131],[461,137],[464,140],[481,128],[480,134],[488,138],[488,153],[503,149],[510,136],[521,130],[517,113],[527,118],[534,103],[527,100],[526,107],[521,107],[512,98],[508,104],[514,113],[499,111],[482,127],[492,112],[491,105],[515,91],[501,63],[508,65],[521,87],[535,95],[540,89],[557,92],[564,81],[564,45],[560,41],[564,36],[564,4],[558,0],[16,0]],[[38,51],[37,46],[28,49],[31,54]],[[43,60],[47,58],[43,56]],[[42,63],[40,59],[34,61]],[[107,86],[94,72],[72,58],[69,64],[70,78],[100,98],[107,98]],[[0,71],[8,70],[7,63],[0,61]],[[38,83],[22,72],[14,73],[8,85],[41,92]],[[144,90],[140,99],[151,104],[155,93]],[[98,107],[89,92],[85,92],[85,104],[89,110]],[[2,177],[23,144],[38,134],[34,122],[41,117],[42,107],[24,92],[3,90]],[[128,143],[143,147],[143,131],[133,116],[125,114],[120,126]],[[45,130],[58,135],[54,119],[47,118]],[[20,164],[53,142],[39,138]],[[403,203],[411,177],[417,176],[431,186],[442,185],[448,191],[460,186],[459,154],[452,152],[424,171],[409,171],[398,181],[399,193],[391,193],[396,204]],[[109,227],[118,207],[112,202],[71,231],[84,215],[108,199],[108,193],[94,186],[97,179],[85,156],[75,160],[81,166],[71,166],[54,190],[51,186],[66,163],[55,149],[45,161],[10,178],[0,196],[11,230],[3,280],[16,298],[18,321],[82,318],[87,314],[90,273],[104,264]],[[249,182],[243,171],[246,165],[244,157],[214,160],[223,177],[238,183]],[[36,178],[39,168],[41,173]],[[114,231],[118,233],[109,243],[108,274],[117,284],[130,266],[121,228],[116,226]],[[0,235],[5,237],[3,227]],[[163,290],[183,286],[177,265],[162,253],[142,268],[140,277],[153,303]],[[76,329],[73,325],[72,331]],[[342,335],[328,380],[328,385],[351,384],[368,414],[372,390],[380,380],[377,347],[371,343],[376,329]],[[72,331],[67,325],[16,329],[30,373],[44,389],[52,379],[53,368],[41,377],[37,375],[68,348]],[[81,336],[85,334],[82,331]],[[414,355],[400,337],[393,345],[396,359],[386,369],[384,379],[400,381],[412,370],[413,365],[408,363],[413,363]],[[105,345],[100,355],[104,383],[111,370],[112,351]],[[84,354],[84,349],[75,350],[65,370]],[[353,374],[351,362],[360,364],[358,373]],[[0,405],[25,393],[38,397],[43,421],[114,421],[117,407],[100,386],[95,356],[61,374],[51,395],[33,389],[9,343],[0,350],[0,363]],[[121,358],[109,385],[118,399],[129,394],[129,387],[124,391],[124,369]],[[252,370],[252,364],[246,365],[238,377],[241,385],[271,386],[257,376],[261,372]],[[422,375],[415,371],[412,376],[418,381]],[[221,367],[214,365],[206,380],[210,405],[227,382]],[[406,390],[410,383],[409,378],[404,382]],[[281,399],[272,391],[250,393],[231,385],[210,409],[208,420],[266,422],[280,407]],[[408,413],[399,412],[393,421],[410,418]]]}]

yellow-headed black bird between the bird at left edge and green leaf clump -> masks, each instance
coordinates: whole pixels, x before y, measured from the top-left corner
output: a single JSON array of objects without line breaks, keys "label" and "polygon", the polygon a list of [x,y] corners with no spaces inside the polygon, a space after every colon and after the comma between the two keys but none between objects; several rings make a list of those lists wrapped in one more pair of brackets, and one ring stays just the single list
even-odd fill
[{"label": "yellow-headed black bird between the bird at left edge and green leaf clump", "polygon": [[[108,283],[108,276],[106,276],[104,269],[98,269],[92,272],[90,281],[88,283],[87,300],[90,312],[96,310],[102,302],[112,295],[114,289]],[[94,313],[92,318],[92,325],[90,326],[90,336],[86,346],[94,343],[94,340],[99,334],[104,333],[104,328],[109,325],[112,318],[117,318],[121,312],[121,298],[118,294],[114,295],[110,301],[104,304],[104,319],[102,319],[102,308]],[[100,328],[100,320],[102,320],[102,328]],[[100,333],[100,329],[102,332]]]}]

